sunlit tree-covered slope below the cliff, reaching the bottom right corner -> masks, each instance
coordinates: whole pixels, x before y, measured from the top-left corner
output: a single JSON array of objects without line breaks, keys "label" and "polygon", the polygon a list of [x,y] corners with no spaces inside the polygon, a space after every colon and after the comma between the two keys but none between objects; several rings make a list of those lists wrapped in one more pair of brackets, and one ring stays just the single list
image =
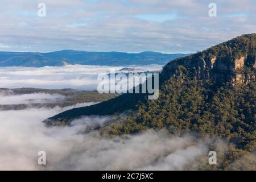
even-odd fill
[{"label": "sunlit tree-covered slope below the cliff, reaching the bottom right corner", "polygon": [[[217,152],[217,165],[207,154],[191,166],[201,170],[256,169],[256,83],[195,80],[184,76],[165,81],[158,100],[141,103],[135,114],[102,127],[102,134],[138,134],[148,129],[192,135]],[[254,72],[255,74],[255,72]],[[189,169],[189,167],[188,167]]]}]

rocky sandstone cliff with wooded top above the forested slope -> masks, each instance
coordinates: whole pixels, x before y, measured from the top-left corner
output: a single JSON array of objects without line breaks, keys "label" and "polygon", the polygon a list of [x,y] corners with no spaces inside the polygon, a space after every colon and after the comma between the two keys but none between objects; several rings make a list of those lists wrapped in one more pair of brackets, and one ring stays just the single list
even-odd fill
[{"label": "rocky sandstone cliff with wooded top above the forested slope", "polygon": [[182,65],[193,69],[195,79],[232,81],[234,84],[255,81],[255,73],[244,71],[245,68],[256,69],[255,45],[256,34],[242,35],[203,52],[171,61],[163,68],[163,75],[174,74]]}]

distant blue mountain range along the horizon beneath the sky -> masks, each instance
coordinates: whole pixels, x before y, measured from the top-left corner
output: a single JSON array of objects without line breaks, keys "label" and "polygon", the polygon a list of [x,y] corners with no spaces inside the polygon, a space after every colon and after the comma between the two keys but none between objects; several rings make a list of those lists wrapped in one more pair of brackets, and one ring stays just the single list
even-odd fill
[{"label": "distant blue mountain range along the horizon beneath the sky", "polygon": [[159,52],[86,52],[63,50],[56,52],[0,52],[0,67],[45,67],[67,64],[81,65],[147,65],[166,64],[181,53],[166,54]]}]

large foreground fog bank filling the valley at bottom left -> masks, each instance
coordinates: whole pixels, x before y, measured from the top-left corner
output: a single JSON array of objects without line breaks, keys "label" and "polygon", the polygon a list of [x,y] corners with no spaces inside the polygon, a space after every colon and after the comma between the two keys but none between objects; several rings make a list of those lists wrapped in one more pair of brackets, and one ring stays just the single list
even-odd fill
[{"label": "large foreground fog bank filling the valley at bottom left", "polygon": [[[34,95],[35,99],[41,97]],[[182,170],[191,160],[207,154],[207,144],[197,143],[191,136],[171,137],[148,130],[105,138],[97,130],[88,130],[112,121],[110,117],[84,117],[69,127],[46,127],[42,122],[64,110],[91,104],[0,111],[0,169]],[[39,151],[46,151],[47,166],[37,163]]]}]

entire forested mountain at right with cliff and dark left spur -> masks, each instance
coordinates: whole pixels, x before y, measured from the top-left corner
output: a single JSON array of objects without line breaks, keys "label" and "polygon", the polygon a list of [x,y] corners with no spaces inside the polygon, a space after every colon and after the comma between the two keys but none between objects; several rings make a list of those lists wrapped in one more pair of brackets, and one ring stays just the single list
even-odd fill
[{"label": "entire forested mountain at right with cliff and dark left spur", "polygon": [[[101,134],[135,135],[148,129],[164,130],[170,135],[190,134],[199,141],[207,140],[210,149],[218,153],[216,166],[210,166],[207,156],[202,156],[197,160],[199,169],[255,170],[255,45],[256,34],[242,35],[171,61],[160,74],[157,100],[147,100],[142,94],[137,97],[123,94],[73,110],[80,111],[79,114],[72,115],[71,110],[51,119],[56,123],[71,122],[72,117],[90,115],[92,110],[96,115],[109,114],[102,107],[109,107],[111,114],[130,109],[132,114],[120,117],[119,122],[108,123],[100,129]],[[212,57],[216,57],[214,64]],[[241,57],[245,57],[243,65],[236,69],[233,63]],[[234,82],[240,75],[240,82]]]}]

